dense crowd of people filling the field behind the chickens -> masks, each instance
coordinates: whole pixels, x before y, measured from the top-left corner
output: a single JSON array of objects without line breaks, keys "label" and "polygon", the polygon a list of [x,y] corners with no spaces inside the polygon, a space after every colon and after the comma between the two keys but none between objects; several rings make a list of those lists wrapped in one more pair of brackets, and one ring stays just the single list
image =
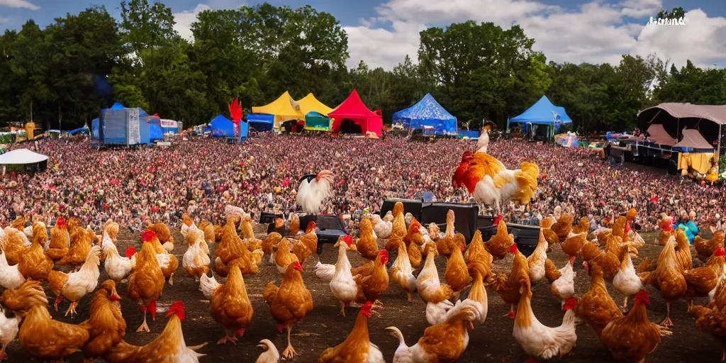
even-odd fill
[{"label": "dense crowd of people filling the field behind the chickens", "polygon": [[[468,193],[454,188],[451,176],[462,152],[476,148],[475,142],[457,139],[274,134],[240,144],[200,138],[136,150],[97,150],[70,139],[36,144],[35,151],[49,156],[48,168],[33,176],[3,176],[1,225],[18,215],[36,214],[49,222],[77,216],[95,228],[113,218],[132,230],[147,221],[176,226],[184,213],[216,223],[228,204],[254,216],[287,215],[296,209],[298,179],[324,169],[333,171],[336,181],[334,196],[325,203],[327,213],[356,219],[378,211],[386,198],[423,192],[439,201],[468,203]],[[693,211],[699,227],[720,227],[723,221],[723,186],[684,182],[659,169],[610,166],[587,148],[501,139],[489,145],[489,153],[507,168],[518,168],[523,160],[540,167],[536,197],[526,207],[505,208],[508,221],[538,224],[556,206],[577,219],[588,216],[593,227],[631,207],[640,212],[638,223],[645,231],[657,228],[661,213],[676,221]]]}]

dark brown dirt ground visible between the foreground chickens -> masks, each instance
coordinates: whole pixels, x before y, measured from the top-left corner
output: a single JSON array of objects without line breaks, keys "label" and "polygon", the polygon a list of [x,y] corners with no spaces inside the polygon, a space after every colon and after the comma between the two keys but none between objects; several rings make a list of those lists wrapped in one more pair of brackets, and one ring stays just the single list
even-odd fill
[{"label": "dark brown dirt ground visible between the foreground chickens", "polygon": [[[174,232],[175,240],[182,241],[178,232]],[[655,261],[661,248],[653,243],[655,236],[646,237],[648,245],[641,250],[640,256],[650,256]],[[128,230],[122,230],[119,241],[118,250],[126,250],[129,245],[140,245],[140,234],[131,234]],[[213,249],[216,245],[211,245]],[[282,275],[277,272],[274,266],[264,264],[261,271],[256,275],[246,275],[245,284],[253,303],[254,316],[251,324],[245,330],[245,336],[240,339],[237,346],[225,345],[217,346],[216,340],[224,335],[224,330],[220,325],[213,321],[209,314],[209,304],[203,302],[204,296],[198,290],[198,282],[190,277],[181,267],[181,256],[186,247],[179,244],[176,245],[174,253],[179,258],[179,270],[174,276],[174,286],[165,285],[163,295],[158,301],[160,310],[166,311],[168,306],[174,301],[184,301],[186,304],[187,319],[182,322],[184,329],[184,338],[188,346],[195,346],[200,343],[209,342],[200,350],[200,353],[208,354],[208,356],[200,358],[200,362],[254,362],[261,348],[256,345],[261,339],[270,339],[282,352],[285,348],[286,334],[277,333],[277,324],[269,314],[269,308],[262,301],[262,290],[268,282],[274,281],[279,284],[282,281]],[[361,258],[355,253],[349,253],[351,264],[358,266]],[[548,254],[548,257],[560,267],[566,263],[566,255],[562,253],[559,246],[556,245]],[[337,251],[332,245],[326,245],[324,252],[319,256],[320,261],[327,264],[334,264],[337,258]],[[393,256],[392,256],[393,258]],[[306,287],[311,291],[314,300],[314,310],[303,319],[302,322],[293,328],[293,346],[301,355],[295,359],[297,362],[317,362],[319,354],[327,347],[336,346],[345,340],[348,333],[353,328],[357,309],[348,308],[347,317],[338,317],[340,304],[330,293],[330,287],[327,283],[320,281],[314,274],[313,266],[316,261],[307,261],[303,279]],[[266,258],[263,259],[266,261]],[[264,263],[264,262],[263,262]],[[439,258],[436,261],[439,266],[440,277],[444,280],[445,261]],[[496,261],[493,269],[496,272],[507,272],[511,268],[512,258],[506,258],[502,261]],[[638,264],[638,261],[635,261]],[[102,268],[103,266],[101,266]],[[576,293],[584,294],[590,285],[590,278],[584,271],[580,262],[576,262]],[[105,281],[107,275],[102,269],[100,282]],[[220,278],[217,277],[221,282]],[[166,315],[160,313],[157,315],[155,322],[150,321],[152,333],[134,333],[136,327],[142,322],[142,313],[139,307],[129,298],[126,298],[126,285],[118,286],[119,293],[123,296],[121,301],[123,317],[126,319],[128,329],[126,332],[126,341],[131,344],[143,345],[158,336],[166,325]],[[608,284],[613,299],[616,303],[621,303],[622,296],[611,285]],[[653,287],[648,287],[651,294],[650,301],[653,303],[648,310],[650,320],[660,322],[665,317],[666,306],[658,291]],[[49,300],[52,299],[52,293],[49,293]],[[476,327],[470,333],[470,342],[467,350],[462,354],[459,362],[524,362],[528,358],[518,346],[518,343],[512,336],[513,320],[505,317],[509,311],[509,306],[502,302],[501,298],[493,291],[487,290],[489,295],[489,313],[483,326]],[[89,317],[89,306],[91,296],[86,296],[78,306],[79,316],[73,319],[62,316],[65,309],[68,308],[68,301],[60,304],[61,312],[51,311],[54,319],[62,322],[70,322],[77,324]],[[380,296],[380,301],[385,305],[385,309],[380,312],[383,317],[372,317],[369,319],[368,325],[370,330],[370,340],[378,345],[383,351],[386,361],[393,360],[393,352],[398,346],[395,338],[387,333],[386,327],[395,325],[404,333],[409,346],[412,346],[418,338],[423,335],[423,330],[428,327],[425,319],[425,303],[415,296],[413,303],[407,303],[406,294],[401,287],[391,282],[386,293]],[[696,303],[703,301],[696,301]],[[546,282],[534,286],[534,298],[532,301],[534,314],[544,325],[557,326],[562,322],[563,311],[560,309],[560,302],[557,301],[550,293],[550,286]],[[632,301],[631,301],[632,306]],[[52,306],[49,306],[52,310]],[[693,315],[686,313],[686,303],[679,301],[672,306],[672,327],[673,335],[665,337],[661,345],[656,348],[652,354],[648,356],[649,361],[653,362],[689,362],[695,354],[703,360],[703,362],[719,362],[722,351],[719,344],[709,335],[705,335],[696,330],[694,326],[695,319]],[[611,362],[611,354],[607,349],[603,348],[597,336],[587,325],[579,325],[577,327],[577,346],[574,351],[562,359],[556,359],[561,362]],[[20,343],[15,340],[7,349],[7,354],[11,362],[40,362],[32,359],[28,353],[20,348]],[[76,354],[67,359],[67,362],[82,362],[81,354]],[[100,361],[99,361],[100,362]]]}]

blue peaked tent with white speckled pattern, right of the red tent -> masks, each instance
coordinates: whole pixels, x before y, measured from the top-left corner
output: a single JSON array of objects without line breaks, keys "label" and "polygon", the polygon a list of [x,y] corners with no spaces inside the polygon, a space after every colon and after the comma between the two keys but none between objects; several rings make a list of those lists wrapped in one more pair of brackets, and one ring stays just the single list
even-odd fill
[{"label": "blue peaked tent with white speckled pattern, right of the red tent", "polygon": [[457,134],[457,119],[426,94],[416,105],[393,114],[393,123],[403,123],[404,129],[431,129],[434,134]]}]

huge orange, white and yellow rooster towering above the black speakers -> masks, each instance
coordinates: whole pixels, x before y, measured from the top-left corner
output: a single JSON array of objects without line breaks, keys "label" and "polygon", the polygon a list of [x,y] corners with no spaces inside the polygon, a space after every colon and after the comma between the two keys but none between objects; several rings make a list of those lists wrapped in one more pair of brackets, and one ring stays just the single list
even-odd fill
[{"label": "huge orange, white and yellow rooster towering above the black speakers", "polygon": [[537,189],[539,166],[523,161],[521,168],[509,170],[501,161],[486,153],[489,134],[482,131],[476,145],[476,152],[465,151],[461,163],[454,172],[454,187],[466,187],[477,203],[502,211],[502,203],[515,200],[521,205],[529,204]]}]

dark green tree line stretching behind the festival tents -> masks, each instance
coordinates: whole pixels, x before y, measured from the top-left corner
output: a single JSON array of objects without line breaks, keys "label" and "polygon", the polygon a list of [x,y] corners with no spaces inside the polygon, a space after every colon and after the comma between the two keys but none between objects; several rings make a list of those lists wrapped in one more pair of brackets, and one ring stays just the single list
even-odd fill
[{"label": "dark green tree line stretching behind the festival tents", "polygon": [[632,130],[637,111],[660,102],[726,104],[726,69],[690,61],[677,68],[655,54],[624,54],[616,66],[547,62],[518,25],[428,28],[420,33],[418,62],[406,57],[393,70],[363,61],[348,69],[340,22],[310,6],[206,10],[192,24],[194,41],[174,25],[163,3],[124,0],[120,20],[89,7],[42,29],[28,20],[20,31],[5,30],[0,126],[27,121],[32,112],[46,129],[72,129],[113,102],[190,126],[228,113],[236,97],[249,113],[284,91],[295,99],[313,92],[335,107],[357,89],[386,123],[430,92],[471,129],[484,120],[503,127],[542,94],[566,107],[574,129],[584,132]]}]

